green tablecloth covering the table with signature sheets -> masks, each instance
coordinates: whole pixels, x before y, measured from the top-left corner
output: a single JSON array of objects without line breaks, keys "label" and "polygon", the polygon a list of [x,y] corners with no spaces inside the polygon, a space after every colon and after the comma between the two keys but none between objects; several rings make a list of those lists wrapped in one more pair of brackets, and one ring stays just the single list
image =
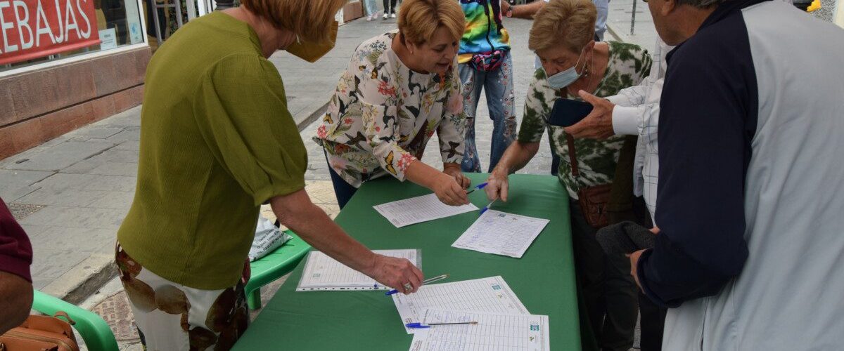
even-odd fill
[{"label": "green tablecloth covering the table with signature sheets", "polygon": [[[473,184],[486,174],[469,174]],[[495,210],[550,220],[522,258],[457,249],[452,243],[478,212],[396,228],[372,208],[430,190],[392,178],[366,182],[336,221],[349,235],[371,249],[420,248],[426,277],[451,274],[447,281],[500,275],[527,310],[549,316],[551,348],[580,350],[574,259],[568,195],[552,176],[512,175],[509,201]],[[469,195],[478,207],[488,204],[479,190]],[[302,261],[279,292],[263,308],[236,350],[403,350],[413,335],[404,332],[392,299],[383,291],[295,292]]]}]

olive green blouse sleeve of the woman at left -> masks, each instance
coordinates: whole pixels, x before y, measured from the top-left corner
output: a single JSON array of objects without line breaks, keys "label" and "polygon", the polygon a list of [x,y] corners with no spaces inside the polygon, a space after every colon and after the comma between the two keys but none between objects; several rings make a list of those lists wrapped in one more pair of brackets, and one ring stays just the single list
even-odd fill
[{"label": "olive green blouse sleeve of the woman at left", "polygon": [[200,133],[220,167],[255,205],[305,187],[307,152],[270,61],[226,56],[204,74],[193,104]]}]

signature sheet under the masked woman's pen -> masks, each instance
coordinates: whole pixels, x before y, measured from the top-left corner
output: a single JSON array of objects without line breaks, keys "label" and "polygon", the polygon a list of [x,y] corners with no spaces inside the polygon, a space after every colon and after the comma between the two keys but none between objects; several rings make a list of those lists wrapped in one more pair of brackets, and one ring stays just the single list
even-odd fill
[{"label": "signature sheet under the masked woman's pen", "polygon": [[452,247],[522,258],[548,220],[488,210],[469,226]]}]

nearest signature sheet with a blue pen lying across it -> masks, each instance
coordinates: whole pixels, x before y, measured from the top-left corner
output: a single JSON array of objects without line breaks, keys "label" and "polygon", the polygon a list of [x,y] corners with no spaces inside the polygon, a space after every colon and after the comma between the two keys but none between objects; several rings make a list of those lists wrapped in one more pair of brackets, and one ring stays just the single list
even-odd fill
[{"label": "nearest signature sheet with a blue pen lying across it", "polygon": [[410,351],[548,351],[548,316],[425,310],[423,324],[478,322],[431,326],[414,334]]}]

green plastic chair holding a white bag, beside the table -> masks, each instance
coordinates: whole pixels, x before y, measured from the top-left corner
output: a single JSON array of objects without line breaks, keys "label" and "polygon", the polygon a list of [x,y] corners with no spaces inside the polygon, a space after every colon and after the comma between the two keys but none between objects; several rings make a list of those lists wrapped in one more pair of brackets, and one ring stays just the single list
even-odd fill
[{"label": "green plastic chair holding a white bag, beside the table", "polygon": [[284,245],[275,249],[267,256],[259,258],[249,264],[252,277],[246,283],[246,304],[252,310],[261,308],[261,287],[268,285],[290,273],[296,265],[311,251],[311,245],[298,237],[293,231],[284,231],[293,237]]}]

